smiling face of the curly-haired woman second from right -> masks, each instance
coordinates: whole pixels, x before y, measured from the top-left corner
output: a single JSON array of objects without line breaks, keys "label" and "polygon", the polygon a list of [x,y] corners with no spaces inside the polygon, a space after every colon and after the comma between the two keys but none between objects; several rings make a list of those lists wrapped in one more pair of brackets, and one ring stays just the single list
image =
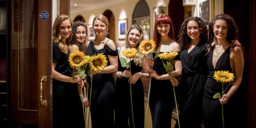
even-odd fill
[{"label": "smiling face of the curly-haired woman second from right", "polygon": [[187,24],[187,33],[191,40],[200,38],[200,28],[195,20],[190,20]]}]

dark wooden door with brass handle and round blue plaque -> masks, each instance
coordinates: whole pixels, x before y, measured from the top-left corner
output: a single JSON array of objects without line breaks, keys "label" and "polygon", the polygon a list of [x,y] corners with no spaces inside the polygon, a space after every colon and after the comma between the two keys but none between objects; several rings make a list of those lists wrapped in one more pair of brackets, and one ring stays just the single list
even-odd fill
[{"label": "dark wooden door with brass handle and round blue plaque", "polygon": [[52,1],[8,3],[10,127],[51,127]]}]

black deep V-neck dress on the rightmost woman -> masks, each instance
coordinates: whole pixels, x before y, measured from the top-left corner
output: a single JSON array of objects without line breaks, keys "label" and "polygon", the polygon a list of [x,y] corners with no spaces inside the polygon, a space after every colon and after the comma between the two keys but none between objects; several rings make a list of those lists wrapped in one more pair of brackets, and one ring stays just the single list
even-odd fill
[{"label": "black deep V-neck dress on the rightmost woman", "polygon": [[[212,65],[212,54],[213,49],[209,54],[209,59],[207,60],[207,67],[209,70],[209,77],[205,84],[204,90],[204,98],[203,98],[203,113],[204,113],[204,127],[205,128],[215,128],[215,127],[223,127],[222,124],[222,116],[221,116],[221,104],[219,99],[213,99],[213,95],[219,92],[221,93],[222,84],[220,82],[216,82],[213,78],[214,71],[216,70],[228,70],[228,72],[232,72],[232,68],[230,65],[230,47],[228,47],[223,54],[221,54],[219,60],[216,63],[215,68]],[[224,86],[226,88],[227,84]],[[225,93],[227,93],[229,88]],[[228,99],[227,104],[223,105],[224,111],[224,120],[225,120],[225,128],[228,127],[237,127],[236,124],[236,106],[233,104],[234,101],[232,97]]]}]

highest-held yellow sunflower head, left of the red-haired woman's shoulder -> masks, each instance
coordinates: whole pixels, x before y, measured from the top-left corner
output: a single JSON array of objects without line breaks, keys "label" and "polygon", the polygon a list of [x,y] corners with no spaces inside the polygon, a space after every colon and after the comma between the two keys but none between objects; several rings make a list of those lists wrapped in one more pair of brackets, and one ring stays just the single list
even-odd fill
[{"label": "highest-held yellow sunflower head, left of the red-haired woman's shoulder", "polygon": [[140,44],[140,52],[144,55],[147,55],[154,51],[156,43],[154,40],[143,40]]}]

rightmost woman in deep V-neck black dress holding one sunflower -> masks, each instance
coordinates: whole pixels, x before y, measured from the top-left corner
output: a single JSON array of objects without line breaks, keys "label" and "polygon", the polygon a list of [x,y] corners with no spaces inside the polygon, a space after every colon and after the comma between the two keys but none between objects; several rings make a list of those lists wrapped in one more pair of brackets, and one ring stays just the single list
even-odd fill
[{"label": "rightmost woman in deep V-neck black dress holding one sunflower", "polygon": [[[225,127],[236,127],[236,104],[232,95],[239,88],[242,77],[244,58],[241,44],[237,40],[238,30],[230,15],[216,15],[209,23],[209,41],[212,49],[207,60],[209,77],[205,84],[203,97],[204,127],[223,127],[221,105],[223,105]],[[221,99],[213,99],[215,93],[221,93],[222,84],[213,78],[214,71],[227,70],[234,73],[233,84],[226,90]],[[228,84],[228,83],[227,83]],[[225,84],[224,88],[226,88]]]}]

